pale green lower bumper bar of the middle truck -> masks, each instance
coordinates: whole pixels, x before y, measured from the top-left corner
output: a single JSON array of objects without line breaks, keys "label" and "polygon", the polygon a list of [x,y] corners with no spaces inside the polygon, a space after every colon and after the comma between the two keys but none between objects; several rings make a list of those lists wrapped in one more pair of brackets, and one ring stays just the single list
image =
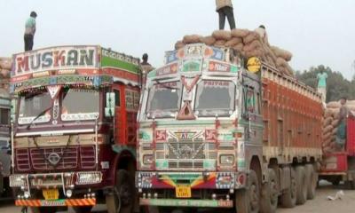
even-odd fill
[{"label": "pale green lower bumper bar of the middle truck", "polygon": [[139,199],[141,206],[174,206],[201,208],[233,208],[233,201],[193,200],[193,199]]}]

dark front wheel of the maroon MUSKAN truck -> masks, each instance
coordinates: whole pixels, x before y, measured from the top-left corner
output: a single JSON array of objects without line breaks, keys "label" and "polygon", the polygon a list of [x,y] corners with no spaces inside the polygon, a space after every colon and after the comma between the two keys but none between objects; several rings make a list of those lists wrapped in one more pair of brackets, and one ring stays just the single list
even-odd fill
[{"label": "dark front wheel of the maroon MUSKAN truck", "polygon": [[127,170],[117,170],[114,192],[106,195],[108,213],[131,213],[134,206],[134,178]]}]

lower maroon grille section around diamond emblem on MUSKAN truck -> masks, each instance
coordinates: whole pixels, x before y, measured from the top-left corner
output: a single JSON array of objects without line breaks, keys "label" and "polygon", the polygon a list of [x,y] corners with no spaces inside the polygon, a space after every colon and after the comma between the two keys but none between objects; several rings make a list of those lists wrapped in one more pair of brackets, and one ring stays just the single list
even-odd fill
[{"label": "lower maroon grille section around diamond emblem on MUSKAN truck", "polygon": [[[52,166],[45,158],[52,153],[62,156],[57,165]],[[78,163],[78,148],[32,148],[30,149],[31,162],[35,170],[64,170],[75,169]],[[44,158],[45,157],[45,158]]]}]

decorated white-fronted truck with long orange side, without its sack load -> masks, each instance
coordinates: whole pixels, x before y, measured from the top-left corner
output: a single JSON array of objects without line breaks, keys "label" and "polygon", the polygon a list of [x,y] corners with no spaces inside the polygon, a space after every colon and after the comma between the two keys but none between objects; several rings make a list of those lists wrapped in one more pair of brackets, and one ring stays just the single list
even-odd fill
[{"label": "decorated white-fronted truck with long orange side, without its sack load", "polygon": [[136,187],[143,210],[275,212],[314,197],[317,91],[261,59],[186,44],[146,76]]}]

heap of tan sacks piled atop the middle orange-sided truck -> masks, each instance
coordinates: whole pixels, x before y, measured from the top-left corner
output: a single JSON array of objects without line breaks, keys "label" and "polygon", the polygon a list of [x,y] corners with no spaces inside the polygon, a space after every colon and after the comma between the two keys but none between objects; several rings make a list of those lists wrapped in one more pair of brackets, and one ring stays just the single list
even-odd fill
[{"label": "heap of tan sacks piled atop the middle orange-sided truck", "polygon": [[241,55],[250,58],[257,57],[276,67],[284,75],[293,75],[293,69],[288,65],[292,53],[276,46],[271,46],[262,39],[256,31],[248,29],[233,29],[232,31],[217,30],[212,36],[189,35],[175,44],[175,49],[180,49],[189,43],[206,43],[209,46],[230,47]]}]

